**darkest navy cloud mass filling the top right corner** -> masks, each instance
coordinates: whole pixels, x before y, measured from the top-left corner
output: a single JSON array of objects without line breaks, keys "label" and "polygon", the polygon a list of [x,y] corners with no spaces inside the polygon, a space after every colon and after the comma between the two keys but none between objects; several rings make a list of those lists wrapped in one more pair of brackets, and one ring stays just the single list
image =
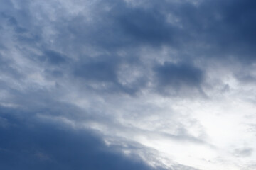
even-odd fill
[{"label": "darkest navy cloud mass filling the top right corner", "polygon": [[194,54],[218,59],[234,56],[246,62],[255,55],[253,8],[255,1],[203,1],[198,6],[181,4],[173,12],[183,32],[191,35],[184,40],[194,44]]}]

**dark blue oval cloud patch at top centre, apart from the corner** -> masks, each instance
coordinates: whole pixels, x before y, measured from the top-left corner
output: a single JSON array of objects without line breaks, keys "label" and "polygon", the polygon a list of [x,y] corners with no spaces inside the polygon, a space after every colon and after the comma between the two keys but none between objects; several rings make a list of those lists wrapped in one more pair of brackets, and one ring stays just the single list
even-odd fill
[{"label": "dark blue oval cloud patch at top centre, apart from the corner", "polygon": [[126,8],[118,19],[124,33],[131,35],[136,41],[161,45],[171,42],[174,34],[171,25],[166,23],[166,16],[159,11]]}]

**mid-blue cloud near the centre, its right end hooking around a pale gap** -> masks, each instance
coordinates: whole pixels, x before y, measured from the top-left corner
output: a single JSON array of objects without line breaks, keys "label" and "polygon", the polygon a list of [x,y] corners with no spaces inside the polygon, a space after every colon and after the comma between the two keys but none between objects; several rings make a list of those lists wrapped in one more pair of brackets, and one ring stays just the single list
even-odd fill
[{"label": "mid-blue cloud near the centre, its right end hooking around a pale gap", "polygon": [[[137,59],[125,59],[119,56],[100,56],[96,59],[88,59],[87,61],[75,64],[73,75],[82,79],[82,82],[91,82],[87,85],[95,90],[123,92],[125,94],[136,94],[140,89],[146,86],[146,77],[139,77],[131,84],[122,84],[119,80],[118,72],[121,72],[122,64],[129,64],[129,67],[137,67]],[[139,61],[138,61],[139,62]],[[123,74],[121,72],[121,74]],[[133,74],[131,72],[131,74]],[[133,75],[124,75],[129,77]],[[97,86],[95,87],[95,84]],[[102,89],[98,86],[102,85]]]}]

